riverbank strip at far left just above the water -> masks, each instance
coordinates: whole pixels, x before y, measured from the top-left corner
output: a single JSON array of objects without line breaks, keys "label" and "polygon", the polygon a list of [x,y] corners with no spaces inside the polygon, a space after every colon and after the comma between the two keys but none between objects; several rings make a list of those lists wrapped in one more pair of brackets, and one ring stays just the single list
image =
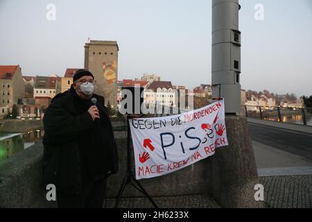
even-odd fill
[{"label": "riverbank strip at far left just above the water", "polygon": [[0,123],[0,133],[21,133],[43,128],[41,119],[3,119]]}]

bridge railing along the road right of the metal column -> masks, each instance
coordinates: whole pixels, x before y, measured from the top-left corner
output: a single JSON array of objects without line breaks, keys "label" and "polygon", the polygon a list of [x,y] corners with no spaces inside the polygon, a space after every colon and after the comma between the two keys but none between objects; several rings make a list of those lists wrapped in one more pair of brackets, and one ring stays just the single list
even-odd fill
[{"label": "bridge railing along the road right of the metal column", "polygon": [[245,117],[312,126],[312,108],[242,105]]}]

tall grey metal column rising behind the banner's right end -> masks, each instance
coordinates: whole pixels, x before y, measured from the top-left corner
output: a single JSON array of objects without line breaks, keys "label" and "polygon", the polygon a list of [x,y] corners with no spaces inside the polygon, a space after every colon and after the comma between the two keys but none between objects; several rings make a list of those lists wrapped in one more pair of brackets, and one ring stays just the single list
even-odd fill
[{"label": "tall grey metal column rising behind the banner's right end", "polygon": [[239,0],[212,0],[212,96],[225,98],[225,112],[241,111]]}]

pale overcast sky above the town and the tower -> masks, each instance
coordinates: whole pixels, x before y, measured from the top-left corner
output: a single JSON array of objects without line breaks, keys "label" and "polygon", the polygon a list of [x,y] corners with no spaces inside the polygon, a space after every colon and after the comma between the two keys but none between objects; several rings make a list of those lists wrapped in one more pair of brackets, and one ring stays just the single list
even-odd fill
[{"label": "pale overcast sky above the town and the tower", "polygon": [[[240,3],[242,88],[312,95],[312,0]],[[119,80],[155,73],[189,88],[211,83],[209,0],[0,0],[0,30],[0,65],[19,64],[23,75],[83,67],[90,37],[118,42]]]}]

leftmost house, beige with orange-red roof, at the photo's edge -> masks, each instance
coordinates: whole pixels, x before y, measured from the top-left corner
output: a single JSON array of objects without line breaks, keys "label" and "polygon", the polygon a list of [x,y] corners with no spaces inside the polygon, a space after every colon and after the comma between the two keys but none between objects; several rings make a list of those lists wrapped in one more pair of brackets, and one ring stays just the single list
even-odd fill
[{"label": "leftmost house, beige with orange-red roof, at the photo's edge", "polygon": [[0,65],[0,118],[24,98],[25,85],[19,65]]}]

